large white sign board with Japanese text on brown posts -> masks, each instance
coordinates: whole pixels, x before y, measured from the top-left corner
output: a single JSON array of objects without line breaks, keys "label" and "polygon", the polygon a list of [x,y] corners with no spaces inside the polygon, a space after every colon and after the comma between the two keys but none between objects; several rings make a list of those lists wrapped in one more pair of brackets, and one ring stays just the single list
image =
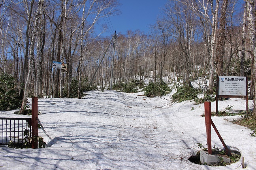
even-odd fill
[{"label": "large white sign board with Japanese text on brown posts", "polygon": [[246,77],[219,76],[220,96],[246,96]]}]

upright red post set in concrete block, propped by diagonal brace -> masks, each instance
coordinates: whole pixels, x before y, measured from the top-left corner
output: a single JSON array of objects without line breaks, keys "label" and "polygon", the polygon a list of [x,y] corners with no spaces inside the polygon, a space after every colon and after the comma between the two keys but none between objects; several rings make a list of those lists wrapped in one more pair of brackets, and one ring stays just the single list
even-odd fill
[{"label": "upright red post set in concrete block, propped by diagonal brace", "polygon": [[205,106],[205,127],[206,127],[208,153],[212,154],[212,149],[211,149],[211,102],[204,102],[204,106]]}]

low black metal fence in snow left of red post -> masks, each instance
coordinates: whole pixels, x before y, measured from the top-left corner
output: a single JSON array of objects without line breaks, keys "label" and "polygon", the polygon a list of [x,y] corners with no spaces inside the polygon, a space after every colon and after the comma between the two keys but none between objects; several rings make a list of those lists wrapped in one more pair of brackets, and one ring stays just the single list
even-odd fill
[{"label": "low black metal fence in snow left of red post", "polygon": [[0,144],[23,143],[31,137],[31,118],[0,118]]}]

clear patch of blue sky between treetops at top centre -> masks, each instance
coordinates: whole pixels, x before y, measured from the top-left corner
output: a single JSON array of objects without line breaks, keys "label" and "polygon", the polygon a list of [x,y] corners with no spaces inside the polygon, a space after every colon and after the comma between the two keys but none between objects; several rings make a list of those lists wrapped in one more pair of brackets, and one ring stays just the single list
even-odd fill
[{"label": "clear patch of blue sky between treetops at top centre", "polygon": [[[119,0],[119,2],[121,14],[108,18],[113,31],[125,34],[127,30],[139,29],[147,34],[150,24],[155,23],[157,16],[161,13],[161,8],[168,0]],[[106,19],[105,22],[107,22]],[[103,36],[113,35],[113,31],[104,33]]]}]

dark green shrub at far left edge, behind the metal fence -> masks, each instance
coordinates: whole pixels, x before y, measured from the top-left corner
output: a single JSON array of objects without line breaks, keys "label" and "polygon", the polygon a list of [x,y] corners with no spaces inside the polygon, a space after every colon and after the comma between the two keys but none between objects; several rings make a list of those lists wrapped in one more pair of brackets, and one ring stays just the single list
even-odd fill
[{"label": "dark green shrub at far left edge, behind the metal fence", "polygon": [[15,85],[12,75],[0,75],[0,110],[14,110],[21,107],[22,100],[19,99],[19,90]]}]

